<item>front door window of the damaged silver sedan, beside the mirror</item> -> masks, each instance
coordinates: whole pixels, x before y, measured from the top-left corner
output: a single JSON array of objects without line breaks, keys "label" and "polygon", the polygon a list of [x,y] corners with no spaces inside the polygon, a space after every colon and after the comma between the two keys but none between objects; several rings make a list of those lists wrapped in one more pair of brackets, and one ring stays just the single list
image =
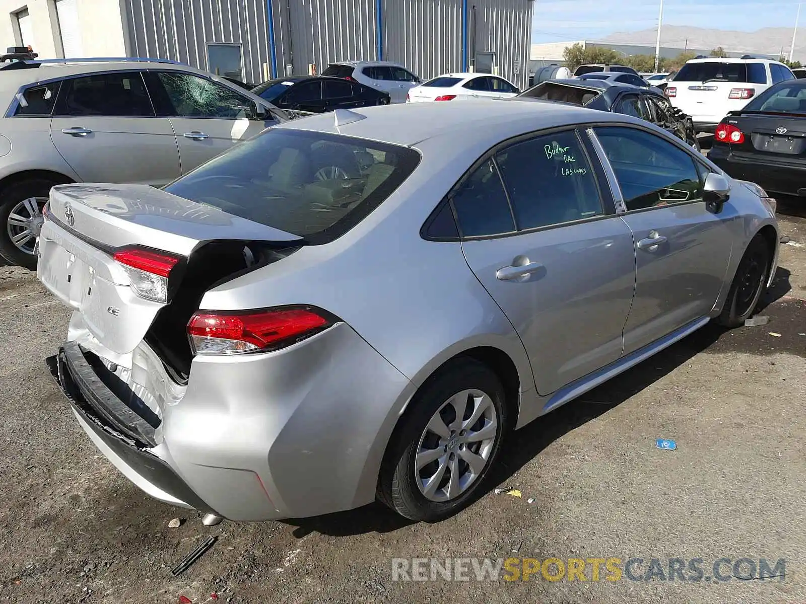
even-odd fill
[{"label": "front door window of the damaged silver sedan, beside the mirror", "polygon": [[596,128],[596,136],[628,211],[702,200],[694,159],[673,143],[632,128]]}]

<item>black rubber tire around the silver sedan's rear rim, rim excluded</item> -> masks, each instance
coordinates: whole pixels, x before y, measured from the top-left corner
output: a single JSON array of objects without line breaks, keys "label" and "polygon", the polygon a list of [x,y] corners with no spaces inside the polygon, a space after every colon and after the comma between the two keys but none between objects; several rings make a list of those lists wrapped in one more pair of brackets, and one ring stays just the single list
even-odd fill
[{"label": "black rubber tire around the silver sedan's rear rim, rim excluded", "polygon": [[[453,395],[468,389],[484,392],[492,399],[495,409],[496,436],[488,461],[477,478],[459,496],[443,502],[426,499],[418,487],[419,477],[415,476],[414,470],[414,456],[418,453],[421,436],[440,407]],[[378,499],[398,514],[414,521],[436,522],[463,510],[484,492],[485,478],[501,452],[507,432],[506,414],[504,388],[492,370],[471,358],[457,358],[448,363],[423,384],[397,425],[381,465]],[[463,446],[469,448],[471,445]],[[457,459],[459,455],[457,453]]]}]

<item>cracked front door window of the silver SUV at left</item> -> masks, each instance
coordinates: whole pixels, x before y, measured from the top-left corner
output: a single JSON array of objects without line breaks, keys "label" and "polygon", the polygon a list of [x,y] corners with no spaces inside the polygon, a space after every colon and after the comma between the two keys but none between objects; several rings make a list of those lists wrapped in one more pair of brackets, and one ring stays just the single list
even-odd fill
[{"label": "cracked front door window of the silver SUV at left", "polygon": [[246,118],[251,101],[218,82],[190,73],[160,72],[173,114],[180,118]]}]

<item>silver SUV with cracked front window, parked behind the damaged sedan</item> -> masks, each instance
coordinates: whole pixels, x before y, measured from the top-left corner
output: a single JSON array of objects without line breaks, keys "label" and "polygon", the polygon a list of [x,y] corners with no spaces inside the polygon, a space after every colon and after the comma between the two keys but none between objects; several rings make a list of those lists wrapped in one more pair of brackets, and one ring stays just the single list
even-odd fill
[{"label": "silver SUV with cracked front window, parked behind the damaged sedan", "polygon": [[285,114],[168,61],[28,61],[0,74],[0,255],[34,269],[55,184],[162,186]]}]

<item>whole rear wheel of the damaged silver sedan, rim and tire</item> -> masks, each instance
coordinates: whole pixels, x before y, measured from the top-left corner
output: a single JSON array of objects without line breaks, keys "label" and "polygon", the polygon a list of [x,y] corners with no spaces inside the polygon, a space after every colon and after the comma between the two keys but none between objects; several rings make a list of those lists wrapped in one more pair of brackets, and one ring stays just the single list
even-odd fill
[{"label": "whole rear wheel of the damaged silver sedan, rim and tire", "polygon": [[379,499],[417,521],[467,507],[501,450],[504,400],[487,366],[469,358],[445,366],[409,403],[384,457]]}]

